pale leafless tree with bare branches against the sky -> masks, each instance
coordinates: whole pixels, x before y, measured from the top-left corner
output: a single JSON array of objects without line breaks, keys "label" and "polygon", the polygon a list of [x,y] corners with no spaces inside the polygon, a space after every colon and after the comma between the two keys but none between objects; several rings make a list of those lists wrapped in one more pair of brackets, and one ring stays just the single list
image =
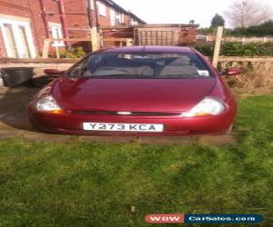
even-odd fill
[{"label": "pale leafless tree with bare branches against the sky", "polygon": [[272,12],[268,5],[258,0],[236,0],[228,7],[225,15],[233,27],[248,27],[268,21]]}]

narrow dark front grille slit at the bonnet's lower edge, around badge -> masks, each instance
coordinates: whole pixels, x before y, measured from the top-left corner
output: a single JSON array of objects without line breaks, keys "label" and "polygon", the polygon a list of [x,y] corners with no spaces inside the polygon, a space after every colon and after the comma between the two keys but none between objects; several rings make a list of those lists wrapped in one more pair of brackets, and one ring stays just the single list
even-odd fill
[{"label": "narrow dark front grille slit at the bonnet's lower edge, around badge", "polygon": [[177,112],[130,112],[131,114],[123,115],[123,114],[117,114],[118,111],[92,111],[92,110],[71,111],[69,113],[84,114],[84,115],[117,115],[117,116],[178,116],[181,114]]}]

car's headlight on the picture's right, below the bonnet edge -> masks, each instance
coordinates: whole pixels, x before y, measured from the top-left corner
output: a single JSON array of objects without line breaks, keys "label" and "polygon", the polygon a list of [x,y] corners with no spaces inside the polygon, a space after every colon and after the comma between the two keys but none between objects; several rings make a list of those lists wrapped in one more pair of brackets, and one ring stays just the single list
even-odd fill
[{"label": "car's headlight on the picture's right, below the bonnet edge", "polygon": [[194,106],[191,110],[183,113],[184,117],[217,115],[225,111],[225,105],[212,97],[204,98],[200,103]]}]

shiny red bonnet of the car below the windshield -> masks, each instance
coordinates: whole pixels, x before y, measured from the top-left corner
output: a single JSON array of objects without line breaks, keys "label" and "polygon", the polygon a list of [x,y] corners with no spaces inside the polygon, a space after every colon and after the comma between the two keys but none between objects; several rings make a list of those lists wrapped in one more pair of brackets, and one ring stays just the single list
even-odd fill
[{"label": "shiny red bonnet of the car below the windshield", "polygon": [[66,110],[181,112],[189,110],[197,100],[209,94],[215,83],[214,78],[174,80],[63,77],[54,84],[52,94],[60,107]]}]

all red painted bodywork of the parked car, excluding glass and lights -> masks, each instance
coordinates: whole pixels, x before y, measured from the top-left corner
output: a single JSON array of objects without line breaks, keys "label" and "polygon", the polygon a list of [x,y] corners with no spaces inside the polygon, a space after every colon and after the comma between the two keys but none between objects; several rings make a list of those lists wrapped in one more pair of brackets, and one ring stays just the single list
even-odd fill
[{"label": "all red painted bodywork of the parked car, excluding glass and lights", "polygon": [[[142,46],[123,47],[104,52],[139,52]],[[55,133],[162,135],[223,133],[233,123],[237,104],[227,84],[217,70],[195,50],[183,47],[152,46],[146,52],[195,52],[202,57],[214,78],[200,79],[125,79],[125,78],[69,78],[66,74],[47,85],[28,105],[29,119],[36,128]],[[35,108],[36,99],[52,94],[65,114],[41,114]],[[188,111],[205,96],[212,96],[226,104],[224,113],[214,116],[181,117],[167,115],[107,115],[74,114],[73,111],[129,111],[181,113]],[[87,132],[82,123],[164,123],[164,133]]]}]

